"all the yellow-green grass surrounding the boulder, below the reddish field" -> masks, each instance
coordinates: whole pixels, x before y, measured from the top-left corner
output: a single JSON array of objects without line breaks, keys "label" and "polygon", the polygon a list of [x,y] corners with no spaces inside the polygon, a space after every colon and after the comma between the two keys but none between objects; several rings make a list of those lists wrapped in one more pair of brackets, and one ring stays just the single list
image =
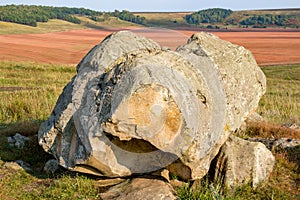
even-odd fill
[{"label": "all the yellow-green grass surrounding the boulder, below the reddish field", "polygon": [[[272,123],[299,123],[300,65],[263,67],[263,71],[268,89],[258,112]],[[36,133],[75,73],[75,66],[69,65],[0,62],[0,199],[99,199],[99,191],[103,189],[94,177],[62,169],[55,174],[42,172],[51,156],[38,146]],[[6,137],[16,132],[32,138],[22,150],[7,143]],[[251,134],[260,136],[261,133]],[[274,131],[263,134],[271,137]],[[294,136],[289,132],[284,134]],[[296,134],[299,136],[299,132]],[[203,181],[202,189],[193,191],[182,187],[177,190],[178,195],[181,199],[300,198],[300,149],[273,153],[277,161],[275,170],[269,182],[256,190],[245,186],[221,193],[218,186]],[[32,171],[6,167],[5,163],[18,159],[30,164]]]}]

